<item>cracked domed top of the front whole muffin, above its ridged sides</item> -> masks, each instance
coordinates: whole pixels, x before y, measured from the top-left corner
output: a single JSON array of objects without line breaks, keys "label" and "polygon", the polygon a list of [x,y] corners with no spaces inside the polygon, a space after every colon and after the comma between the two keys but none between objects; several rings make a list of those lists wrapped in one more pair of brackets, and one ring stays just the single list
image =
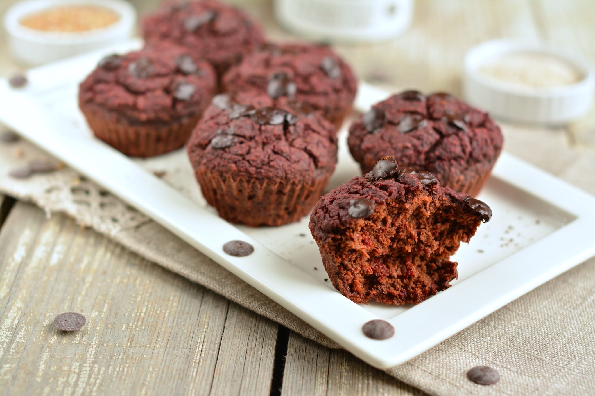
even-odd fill
[{"label": "cracked domed top of the front whole muffin, above its ridged sides", "polygon": [[195,169],[283,182],[333,172],[337,138],[330,123],[267,101],[256,92],[215,96],[188,144]]}]

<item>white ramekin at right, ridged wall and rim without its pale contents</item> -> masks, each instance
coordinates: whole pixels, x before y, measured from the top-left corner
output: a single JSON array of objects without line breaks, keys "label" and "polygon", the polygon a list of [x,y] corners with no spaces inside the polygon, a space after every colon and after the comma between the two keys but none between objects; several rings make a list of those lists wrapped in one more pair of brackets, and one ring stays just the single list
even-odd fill
[{"label": "white ramekin at right, ridged wall and rim without its pale contents", "polygon": [[[581,75],[578,83],[552,88],[515,87],[499,83],[478,71],[497,56],[531,52],[564,59]],[[575,55],[549,45],[518,40],[492,40],[473,47],[465,56],[463,96],[496,118],[524,123],[563,125],[583,116],[593,104],[593,70]]]}]

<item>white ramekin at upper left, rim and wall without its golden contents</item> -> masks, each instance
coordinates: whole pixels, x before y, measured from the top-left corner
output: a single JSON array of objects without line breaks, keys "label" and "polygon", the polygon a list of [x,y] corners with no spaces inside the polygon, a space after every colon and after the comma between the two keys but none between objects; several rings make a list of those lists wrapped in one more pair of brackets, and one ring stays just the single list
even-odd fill
[{"label": "white ramekin at upper left, rim and wall without its golden contents", "polygon": [[[26,15],[44,9],[70,5],[97,5],[120,15],[105,28],[64,33],[39,31],[19,23]],[[136,26],[136,10],[124,0],[27,0],[12,5],[4,16],[4,28],[12,56],[26,65],[40,65],[128,39]]]}]

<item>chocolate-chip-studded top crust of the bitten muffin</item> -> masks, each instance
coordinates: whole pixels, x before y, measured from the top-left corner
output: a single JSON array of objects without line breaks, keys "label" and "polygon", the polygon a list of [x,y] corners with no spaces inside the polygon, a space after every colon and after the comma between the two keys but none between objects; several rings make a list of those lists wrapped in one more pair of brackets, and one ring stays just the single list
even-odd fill
[{"label": "chocolate-chip-studded top crust of the bitten muffin", "polygon": [[394,157],[383,157],[364,176],[353,178],[320,198],[310,219],[320,233],[317,239],[325,240],[338,229],[372,216],[377,205],[387,201],[405,203],[418,195],[441,195],[465,211],[476,213],[484,223],[491,218],[491,209],[484,202],[441,187],[430,172],[399,169]]}]

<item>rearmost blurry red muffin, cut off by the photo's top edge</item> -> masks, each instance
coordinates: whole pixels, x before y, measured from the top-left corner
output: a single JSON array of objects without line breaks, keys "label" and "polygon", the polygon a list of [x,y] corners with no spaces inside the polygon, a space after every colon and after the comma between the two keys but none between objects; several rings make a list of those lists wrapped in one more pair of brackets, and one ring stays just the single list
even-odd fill
[{"label": "rearmost blurry red muffin, cut off by the photo's top edge", "polygon": [[181,45],[223,74],[264,42],[262,29],[239,8],[214,0],[170,2],[143,19],[146,43]]}]

